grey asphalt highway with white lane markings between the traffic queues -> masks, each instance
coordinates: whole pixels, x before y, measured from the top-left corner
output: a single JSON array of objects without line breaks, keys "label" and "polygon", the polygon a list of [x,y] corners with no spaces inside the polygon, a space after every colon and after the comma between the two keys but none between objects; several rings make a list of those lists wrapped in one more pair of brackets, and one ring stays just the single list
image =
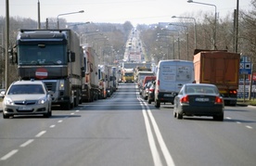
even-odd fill
[{"label": "grey asphalt highway with white lane markings between the traffic queues", "polygon": [[42,116],[0,117],[1,166],[254,166],[256,110],[225,107],[224,121],[173,118],[134,83],[107,99]]}]

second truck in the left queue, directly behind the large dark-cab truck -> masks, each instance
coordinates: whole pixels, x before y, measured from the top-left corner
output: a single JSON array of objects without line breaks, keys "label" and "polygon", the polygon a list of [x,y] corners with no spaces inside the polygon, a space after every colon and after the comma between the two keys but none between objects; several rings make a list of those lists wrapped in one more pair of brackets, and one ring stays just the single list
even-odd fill
[{"label": "second truck in the left queue, directly behind the large dark-cab truck", "polygon": [[98,82],[98,59],[95,50],[89,45],[82,45],[83,49],[83,66],[85,77],[82,81],[82,98],[83,102],[92,102],[99,98]]}]

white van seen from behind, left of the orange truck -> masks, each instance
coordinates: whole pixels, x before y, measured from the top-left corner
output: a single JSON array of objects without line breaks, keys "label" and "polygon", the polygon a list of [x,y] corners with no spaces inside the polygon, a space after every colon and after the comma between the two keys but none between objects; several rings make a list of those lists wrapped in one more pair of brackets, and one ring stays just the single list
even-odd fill
[{"label": "white van seen from behind, left of the orange truck", "polygon": [[160,103],[171,102],[178,95],[185,83],[193,83],[194,64],[186,60],[160,60],[157,68],[155,87],[155,107],[160,108]]}]

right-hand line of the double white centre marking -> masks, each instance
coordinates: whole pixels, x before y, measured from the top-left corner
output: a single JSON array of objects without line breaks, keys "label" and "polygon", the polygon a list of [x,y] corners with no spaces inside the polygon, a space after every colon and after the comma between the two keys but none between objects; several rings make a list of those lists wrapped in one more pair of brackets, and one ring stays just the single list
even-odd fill
[{"label": "right-hand line of the double white centre marking", "polygon": [[173,161],[173,158],[172,158],[172,156],[171,156],[171,154],[170,154],[168,148],[166,147],[166,144],[165,144],[165,142],[164,142],[164,140],[163,140],[163,138],[162,138],[162,136],[161,136],[161,134],[160,134],[159,126],[158,126],[157,122],[155,121],[155,118],[154,118],[154,116],[152,115],[152,112],[151,112],[151,110],[148,108],[148,106],[147,106],[147,113],[148,113],[149,118],[150,118],[150,120],[151,120],[151,122],[152,122],[152,124],[153,124],[155,133],[156,133],[157,138],[158,138],[158,141],[159,141],[159,143],[160,143],[161,151],[162,151],[162,153],[163,153],[163,156],[164,156],[164,159],[165,159],[167,165],[169,165],[169,166],[175,165],[175,164],[174,164],[174,161]]}]

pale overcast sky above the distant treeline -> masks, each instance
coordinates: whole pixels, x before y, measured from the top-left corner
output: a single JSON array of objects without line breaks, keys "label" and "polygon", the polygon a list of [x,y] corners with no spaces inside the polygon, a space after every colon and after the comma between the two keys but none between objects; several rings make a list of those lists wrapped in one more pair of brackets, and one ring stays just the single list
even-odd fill
[{"label": "pale overcast sky above the distant treeline", "polygon": [[[187,0],[39,0],[41,21],[57,18],[59,14],[84,10],[84,13],[60,16],[68,22],[111,22],[136,24],[171,22],[172,16],[197,17],[217,8],[219,17],[232,13],[237,0],[196,0],[214,6],[187,3]],[[239,9],[250,9],[251,0],[239,0]],[[9,0],[9,15],[37,20],[38,0]],[[6,0],[0,0],[0,16],[6,16]],[[59,18],[60,18],[59,17]],[[197,18],[196,18],[197,19]]]}]

